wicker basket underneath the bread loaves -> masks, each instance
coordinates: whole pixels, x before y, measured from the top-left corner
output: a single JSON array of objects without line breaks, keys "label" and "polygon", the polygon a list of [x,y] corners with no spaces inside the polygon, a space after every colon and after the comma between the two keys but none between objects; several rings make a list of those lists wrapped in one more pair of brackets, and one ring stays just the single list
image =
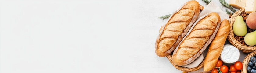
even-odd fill
[{"label": "wicker basket underneath the bread loaves", "polygon": [[[200,5],[200,12],[204,9],[204,6]],[[200,68],[202,68],[204,66],[204,60],[195,68],[183,68],[182,66],[177,66],[173,63],[172,61],[172,56],[171,54],[169,54],[168,56],[166,56],[169,61],[171,62],[171,64],[178,70],[184,71],[184,72],[191,72],[191,71],[196,71]]]}]

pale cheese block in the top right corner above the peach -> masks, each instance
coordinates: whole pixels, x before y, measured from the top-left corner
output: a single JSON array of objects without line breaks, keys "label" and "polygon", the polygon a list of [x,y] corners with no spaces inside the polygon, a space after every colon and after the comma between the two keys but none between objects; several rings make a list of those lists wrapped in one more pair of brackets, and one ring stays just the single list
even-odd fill
[{"label": "pale cheese block in the top right corner above the peach", "polygon": [[247,14],[250,14],[251,12],[256,11],[256,0],[246,0],[246,5],[245,5],[245,12]]}]

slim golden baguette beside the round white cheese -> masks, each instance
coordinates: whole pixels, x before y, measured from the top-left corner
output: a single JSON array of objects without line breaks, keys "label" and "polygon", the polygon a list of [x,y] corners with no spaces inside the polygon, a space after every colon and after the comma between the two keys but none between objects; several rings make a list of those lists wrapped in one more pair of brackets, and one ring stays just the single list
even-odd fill
[{"label": "slim golden baguette beside the round white cheese", "polygon": [[223,45],[229,35],[230,24],[228,20],[223,20],[216,36],[211,42],[209,50],[204,60],[204,71],[211,71],[216,66],[218,58],[223,49]]}]

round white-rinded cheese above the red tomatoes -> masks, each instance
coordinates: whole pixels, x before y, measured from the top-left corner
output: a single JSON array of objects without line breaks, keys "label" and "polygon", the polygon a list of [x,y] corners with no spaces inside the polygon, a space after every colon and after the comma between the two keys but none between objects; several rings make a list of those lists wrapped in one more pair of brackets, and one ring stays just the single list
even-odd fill
[{"label": "round white-rinded cheese above the red tomatoes", "polygon": [[224,45],[223,50],[220,54],[220,59],[224,63],[234,63],[239,59],[239,50],[233,45]]}]

